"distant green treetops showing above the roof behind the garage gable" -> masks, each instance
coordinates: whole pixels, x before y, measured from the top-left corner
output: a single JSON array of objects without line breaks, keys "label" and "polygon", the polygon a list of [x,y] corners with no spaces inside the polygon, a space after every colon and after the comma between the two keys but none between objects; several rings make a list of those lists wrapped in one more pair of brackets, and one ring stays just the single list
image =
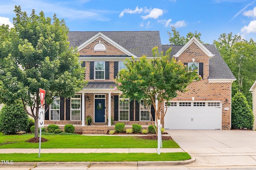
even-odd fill
[{"label": "distant green treetops showing above the roof behind the garage gable", "polygon": [[201,41],[201,33],[195,33],[189,32],[186,35],[186,38],[184,36],[180,36],[180,31],[176,31],[175,27],[172,26],[172,32],[167,32],[169,35],[169,42],[171,45],[185,45],[192,37],[196,37],[198,41],[200,41],[202,44],[204,43]]}]

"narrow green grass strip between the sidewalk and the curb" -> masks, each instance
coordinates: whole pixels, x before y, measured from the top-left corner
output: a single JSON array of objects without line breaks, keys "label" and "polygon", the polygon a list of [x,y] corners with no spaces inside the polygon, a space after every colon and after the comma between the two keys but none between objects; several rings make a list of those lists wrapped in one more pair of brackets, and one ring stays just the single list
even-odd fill
[{"label": "narrow green grass strip between the sidewalk and the curb", "polygon": [[175,153],[43,153],[40,154],[0,154],[4,160],[13,162],[130,162],[130,161],[174,161],[188,160],[186,152]]}]

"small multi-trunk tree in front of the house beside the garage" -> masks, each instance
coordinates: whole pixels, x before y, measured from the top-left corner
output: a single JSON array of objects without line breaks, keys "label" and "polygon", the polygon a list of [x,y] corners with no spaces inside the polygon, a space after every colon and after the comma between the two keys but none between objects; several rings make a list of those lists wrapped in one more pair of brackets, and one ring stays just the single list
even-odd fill
[{"label": "small multi-trunk tree in front of the house beside the garage", "polygon": [[155,47],[151,59],[146,56],[140,57],[139,61],[126,59],[127,68],[121,70],[115,79],[117,89],[123,92],[122,98],[144,100],[151,118],[149,108],[151,105],[154,107],[157,125],[158,119],[161,121],[160,111],[164,102],[175,98],[177,92],[185,92],[186,87],[199,78],[197,72],[188,72],[183,63],[170,59],[170,51],[164,55]]}]

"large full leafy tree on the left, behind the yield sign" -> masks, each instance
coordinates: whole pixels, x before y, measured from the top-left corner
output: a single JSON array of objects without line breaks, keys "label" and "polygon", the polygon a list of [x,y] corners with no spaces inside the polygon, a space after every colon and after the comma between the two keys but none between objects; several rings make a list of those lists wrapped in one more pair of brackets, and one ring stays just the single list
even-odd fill
[{"label": "large full leafy tree on the left, behind the yield sign", "polygon": [[0,103],[21,99],[35,119],[38,138],[39,88],[46,90],[47,104],[59,96],[73,96],[85,83],[84,69],[77,49],[69,47],[64,20],[55,14],[46,18],[44,12],[36,15],[34,10],[28,16],[20,6],[14,12],[14,28],[0,27]]}]

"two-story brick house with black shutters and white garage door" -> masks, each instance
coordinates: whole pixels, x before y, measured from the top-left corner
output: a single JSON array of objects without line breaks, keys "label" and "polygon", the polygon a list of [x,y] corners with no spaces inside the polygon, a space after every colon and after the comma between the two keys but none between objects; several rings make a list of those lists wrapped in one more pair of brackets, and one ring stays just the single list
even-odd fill
[{"label": "two-story brick house with black shutters and white garage door", "polygon": [[[78,47],[88,85],[72,98],[54,100],[46,112],[45,125],[74,124],[77,131],[84,131],[88,115],[93,125],[99,125],[98,129],[111,129],[111,118],[114,123],[126,125],[154,124],[154,116],[152,122],[147,111],[151,109],[154,113],[153,108],[146,108],[143,101],[126,99],[124,102],[120,92],[113,89],[114,78],[125,68],[126,58],[152,57],[152,48],[157,46],[164,52],[172,47],[174,58],[188,65],[188,71],[198,70],[203,77],[192,82],[188,92],[168,102],[171,109],[164,119],[164,127],[230,129],[231,84],[236,79],[214,45],[202,45],[196,38],[186,45],[162,45],[159,31],[69,32],[68,37],[70,46]],[[207,126],[209,123],[212,125]]]}]

